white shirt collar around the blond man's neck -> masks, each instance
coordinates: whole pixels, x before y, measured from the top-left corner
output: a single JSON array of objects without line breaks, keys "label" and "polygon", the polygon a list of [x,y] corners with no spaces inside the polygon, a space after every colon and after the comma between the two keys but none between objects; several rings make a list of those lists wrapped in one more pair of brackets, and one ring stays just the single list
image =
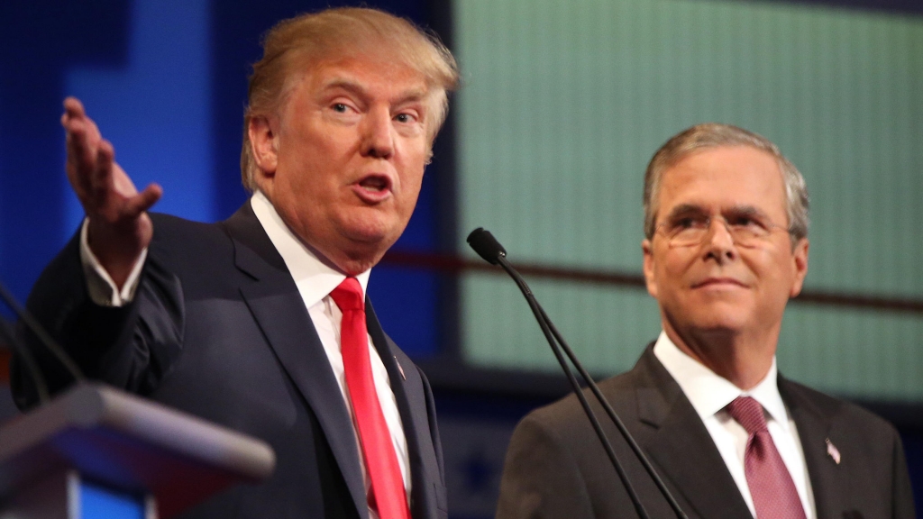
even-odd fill
[{"label": "white shirt collar around the blond man's neck", "polygon": [[[257,191],[250,198],[250,206],[257,215],[259,224],[270,236],[272,245],[285,261],[285,266],[292,274],[294,284],[298,287],[307,308],[313,307],[346,279],[346,274],[332,267],[328,261],[322,259],[318,251],[308,247],[294,235],[292,229],[282,222],[282,217],[272,207],[270,199],[261,191]],[[355,276],[362,285],[364,296],[370,272],[371,270],[368,270]]]}]

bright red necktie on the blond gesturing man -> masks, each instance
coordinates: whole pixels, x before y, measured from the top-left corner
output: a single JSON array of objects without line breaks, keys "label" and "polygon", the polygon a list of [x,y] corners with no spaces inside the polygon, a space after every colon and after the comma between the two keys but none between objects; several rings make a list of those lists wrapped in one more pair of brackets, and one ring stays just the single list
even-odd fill
[{"label": "bright red necktie on the blond gesturing man", "polygon": [[380,519],[410,519],[407,491],[404,489],[401,467],[391,443],[391,434],[378,403],[378,392],[372,379],[372,363],[368,356],[366,302],[362,287],[353,278],[346,278],[330,292],[330,297],[342,310],[340,343],[346,387],[353,402],[359,442],[366,457],[366,469],[371,480],[368,505]]}]

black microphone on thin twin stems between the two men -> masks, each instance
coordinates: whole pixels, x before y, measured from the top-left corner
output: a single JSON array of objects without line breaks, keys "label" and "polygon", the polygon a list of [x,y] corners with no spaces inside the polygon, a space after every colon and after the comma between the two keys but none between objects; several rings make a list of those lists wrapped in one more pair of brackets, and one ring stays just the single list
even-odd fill
[{"label": "black microphone on thin twin stems between the two men", "polygon": [[[631,436],[628,428],[626,428],[625,424],[622,423],[622,420],[618,417],[615,409],[612,408],[612,405],[609,404],[609,402],[605,399],[605,396],[599,390],[599,387],[596,385],[593,377],[591,377],[586,369],[583,368],[580,361],[577,359],[577,356],[574,355],[573,351],[570,349],[570,346],[564,340],[564,337],[561,336],[560,332],[557,332],[555,325],[551,322],[550,319],[548,319],[548,316],[545,314],[545,309],[543,309],[538,304],[538,301],[535,299],[535,296],[533,296],[529,285],[525,283],[524,279],[522,279],[521,274],[517,272],[512,265],[509,264],[509,261],[506,259],[506,249],[504,249],[503,246],[497,242],[497,239],[494,237],[494,235],[491,235],[489,231],[485,231],[483,227],[474,229],[472,233],[468,235],[467,241],[468,245],[470,245],[474,251],[481,256],[481,258],[484,258],[488,263],[493,265],[500,265],[504,271],[509,273],[510,277],[513,278],[513,281],[516,282],[516,284],[520,287],[522,296],[525,296],[526,301],[529,303],[529,307],[532,308],[535,320],[538,321],[539,327],[541,327],[542,332],[545,333],[545,339],[548,341],[552,352],[557,357],[558,364],[561,365],[565,375],[567,375],[574,393],[577,395],[578,400],[580,400],[584,413],[590,419],[590,422],[593,425],[593,429],[596,431],[596,435],[603,443],[605,453],[608,454],[609,460],[612,462],[613,467],[616,469],[619,479],[621,479],[622,484],[628,491],[629,498],[631,499],[631,502],[634,505],[635,511],[638,513],[638,515],[642,518],[648,517],[647,512],[644,510],[644,506],[641,504],[641,500],[638,499],[638,495],[635,493],[634,488],[629,482],[628,475],[625,474],[624,469],[618,462],[616,453],[612,449],[612,444],[609,443],[608,439],[605,437],[605,432],[599,425],[599,420],[593,413],[593,409],[590,407],[590,404],[586,401],[586,397],[581,391],[580,384],[574,377],[573,373],[570,371],[570,368],[567,365],[567,361],[564,360],[564,356],[561,354],[562,350],[567,354],[570,362],[573,363],[574,368],[577,368],[577,370],[580,372],[583,380],[585,380],[587,385],[590,386],[590,390],[593,392],[596,400],[598,400],[599,403],[603,406],[606,415],[608,415],[612,422],[616,425],[616,428],[621,433],[622,437],[629,444],[631,451],[641,462],[641,465],[644,466],[644,469],[653,479],[657,489],[660,490],[660,493],[664,496],[667,503],[669,503],[670,508],[673,509],[673,512],[677,514],[679,519],[687,519],[686,513],[683,513],[682,509],[679,508],[679,503],[677,503],[669,489],[666,488],[664,481],[657,474],[656,470],[654,470],[653,465],[651,465],[651,462],[647,459],[647,456],[645,456],[641,451],[641,446],[639,446],[637,441],[635,441]],[[560,345],[558,345],[558,343]]]}]

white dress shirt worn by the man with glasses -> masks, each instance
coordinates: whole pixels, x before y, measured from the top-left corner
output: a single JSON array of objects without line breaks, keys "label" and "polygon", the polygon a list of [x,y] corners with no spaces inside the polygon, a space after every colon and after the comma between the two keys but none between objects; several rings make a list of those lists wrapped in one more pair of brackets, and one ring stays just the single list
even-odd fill
[{"label": "white dress shirt worn by the man with glasses", "polygon": [[814,519],[817,513],[814,509],[814,494],[808,477],[808,466],[805,464],[805,455],[798,439],[795,421],[788,414],[788,409],[785,408],[779,394],[775,357],[766,377],[756,387],[745,392],[686,355],[666,336],[666,332],[660,332],[657,343],[653,345],[653,355],[677,381],[701,417],[705,428],[712,435],[718,453],[721,453],[727,465],[727,470],[731,477],[734,477],[740,495],[747,501],[750,513],[754,517],[756,509],[753,507],[753,497],[750,495],[744,472],[744,453],[749,435],[725,410],[725,406],[741,395],[751,396],[762,405],[766,415],[766,426],[773,437],[775,448],[795,482],[805,516],[807,519]]}]

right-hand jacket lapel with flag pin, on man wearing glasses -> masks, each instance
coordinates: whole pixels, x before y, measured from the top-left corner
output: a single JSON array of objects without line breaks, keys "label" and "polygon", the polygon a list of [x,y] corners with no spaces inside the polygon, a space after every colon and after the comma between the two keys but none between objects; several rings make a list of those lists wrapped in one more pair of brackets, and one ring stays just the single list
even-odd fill
[{"label": "right-hand jacket lapel with flag pin, on man wearing glasses", "polygon": [[843,511],[849,508],[847,496],[843,492],[843,489],[849,487],[846,471],[842,470],[828,453],[827,441],[833,444],[834,449],[837,444],[836,431],[831,426],[831,420],[821,408],[809,399],[803,398],[797,385],[781,376],[779,392],[792,414],[792,419],[795,420],[798,440],[801,441],[801,450],[805,454],[805,464],[808,466],[818,519],[839,519],[843,517]]}]

